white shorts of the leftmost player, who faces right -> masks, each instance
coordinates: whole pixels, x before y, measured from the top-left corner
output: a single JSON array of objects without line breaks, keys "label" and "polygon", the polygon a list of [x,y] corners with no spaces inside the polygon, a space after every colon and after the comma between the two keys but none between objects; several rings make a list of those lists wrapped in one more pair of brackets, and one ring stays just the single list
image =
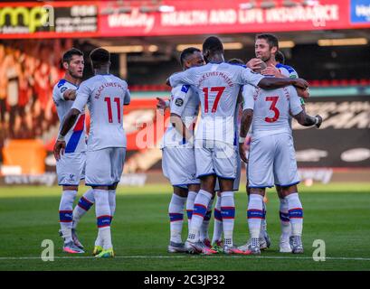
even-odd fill
[{"label": "white shorts of the leftmost player, who faces right", "polygon": [[78,186],[85,178],[86,153],[62,154],[56,162],[56,173],[60,186]]}]

